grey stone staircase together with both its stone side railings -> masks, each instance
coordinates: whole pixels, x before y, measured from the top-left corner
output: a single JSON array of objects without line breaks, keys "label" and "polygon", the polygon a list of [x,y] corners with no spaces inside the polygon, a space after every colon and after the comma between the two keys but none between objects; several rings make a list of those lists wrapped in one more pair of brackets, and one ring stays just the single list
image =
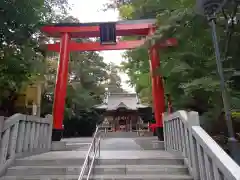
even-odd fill
[{"label": "grey stone staircase together with both its stone side railings", "polygon": [[[96,153],[90,179],[240,179],[240,167],[200,127],[196,112],[164,117],[164,143],[156,137],[111,133],[100,146],[92,146],[101,152]],[[0,117],[0,180],[78,179],[83,163],[91,162],[85,158],[92,157],[87,153],[92,138],[51,144],[51,122],[51,116]]]}]

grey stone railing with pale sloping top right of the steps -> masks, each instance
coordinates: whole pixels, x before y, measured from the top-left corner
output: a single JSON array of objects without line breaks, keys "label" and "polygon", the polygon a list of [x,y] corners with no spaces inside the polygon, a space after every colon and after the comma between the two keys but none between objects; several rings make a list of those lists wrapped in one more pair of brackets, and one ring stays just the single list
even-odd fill
[{"label": "grey stone railing with pale sloping top right of the steps", "polygon": [[164,115],[165,149],[181,153],[194,180],[239,180],[240,167],[200,127],[197,112]]}]

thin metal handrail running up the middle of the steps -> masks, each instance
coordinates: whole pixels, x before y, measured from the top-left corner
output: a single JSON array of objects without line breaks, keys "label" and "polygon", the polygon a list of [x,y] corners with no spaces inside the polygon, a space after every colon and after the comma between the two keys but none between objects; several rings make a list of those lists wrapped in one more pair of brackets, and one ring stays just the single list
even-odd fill
[{"label": "thin metal handrail running up the middle of the steps", "polygon": [[[99,127],[97,126],[97,128],[96,128],[96,130],[94,132],[94,135],[93,135],[93,140],[92,140],[91,145],[90,145],[90,147],[88,149],[88,152],[86,154],[86,158],[84,160],[84,163],[83,163],[81,172],[79,174],[78,180],[82,180],[83,179],[83,177],[85,175],[85,170],[86,170],[87,167],[88,167],[87,180],[89,179],[91,171],[92,171],[93,163],[95,161],[95,157],[96,157],[97,151],[99,152],[99,156],[100,156],[100,140],[101,140],[100,136],[97,139],[97,146],[96,146],[96,138],[97,138],[97,135],[100,132],[101,131],[99,130]],[[90,154],[91,154],[92,151],[93,151],[94,154],[93,154],[92,161],[91,161],[91,164],[90,164],[90,167],[89,167]]]}]

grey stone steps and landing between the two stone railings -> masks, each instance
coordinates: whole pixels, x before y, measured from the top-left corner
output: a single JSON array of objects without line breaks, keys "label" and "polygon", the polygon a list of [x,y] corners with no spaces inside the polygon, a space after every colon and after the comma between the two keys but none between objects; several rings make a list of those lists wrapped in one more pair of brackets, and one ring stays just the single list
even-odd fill
[{"label": "grey stone steps and landing between the two stone railings", "polygon": [[[154,137],[103,139],[101,156],[95,161],[91,179],[192,179],[183,158],[164,151],[163,142],[158,143],[158,146],[146,143],[154,139]],[[68,145],[62,151],[17,159],[1,180],[76,180],[86,155],[86,147],[82,147],[82,143],[87,142],[77,139],[66,141]],[[124,150],[118,149],[116,144],[119,143]]]}]

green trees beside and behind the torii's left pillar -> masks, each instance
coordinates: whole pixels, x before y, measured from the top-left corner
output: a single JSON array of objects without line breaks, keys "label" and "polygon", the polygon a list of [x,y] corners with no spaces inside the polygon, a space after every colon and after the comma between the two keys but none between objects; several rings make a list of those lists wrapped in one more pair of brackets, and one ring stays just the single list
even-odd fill
[{"label": "green trees beside and behind the torii's left pillar", "polygon": [[[57,22],[78,23],[67,13],[69,8],[67,0],[0,2],[0,115],[27,113],[16,108],[16,99],[25,86],[38,81],[44,83],[41,115],[52,113],[58,53],[46,51],[48,38],[40,27]],[[117,72],[118,67],[106,64],[98,52],[71,53],[64,118],[66,136],[91,135],[99,120],[93,105],[101,103],[110,86],[114,91],[123,91]]]}]

